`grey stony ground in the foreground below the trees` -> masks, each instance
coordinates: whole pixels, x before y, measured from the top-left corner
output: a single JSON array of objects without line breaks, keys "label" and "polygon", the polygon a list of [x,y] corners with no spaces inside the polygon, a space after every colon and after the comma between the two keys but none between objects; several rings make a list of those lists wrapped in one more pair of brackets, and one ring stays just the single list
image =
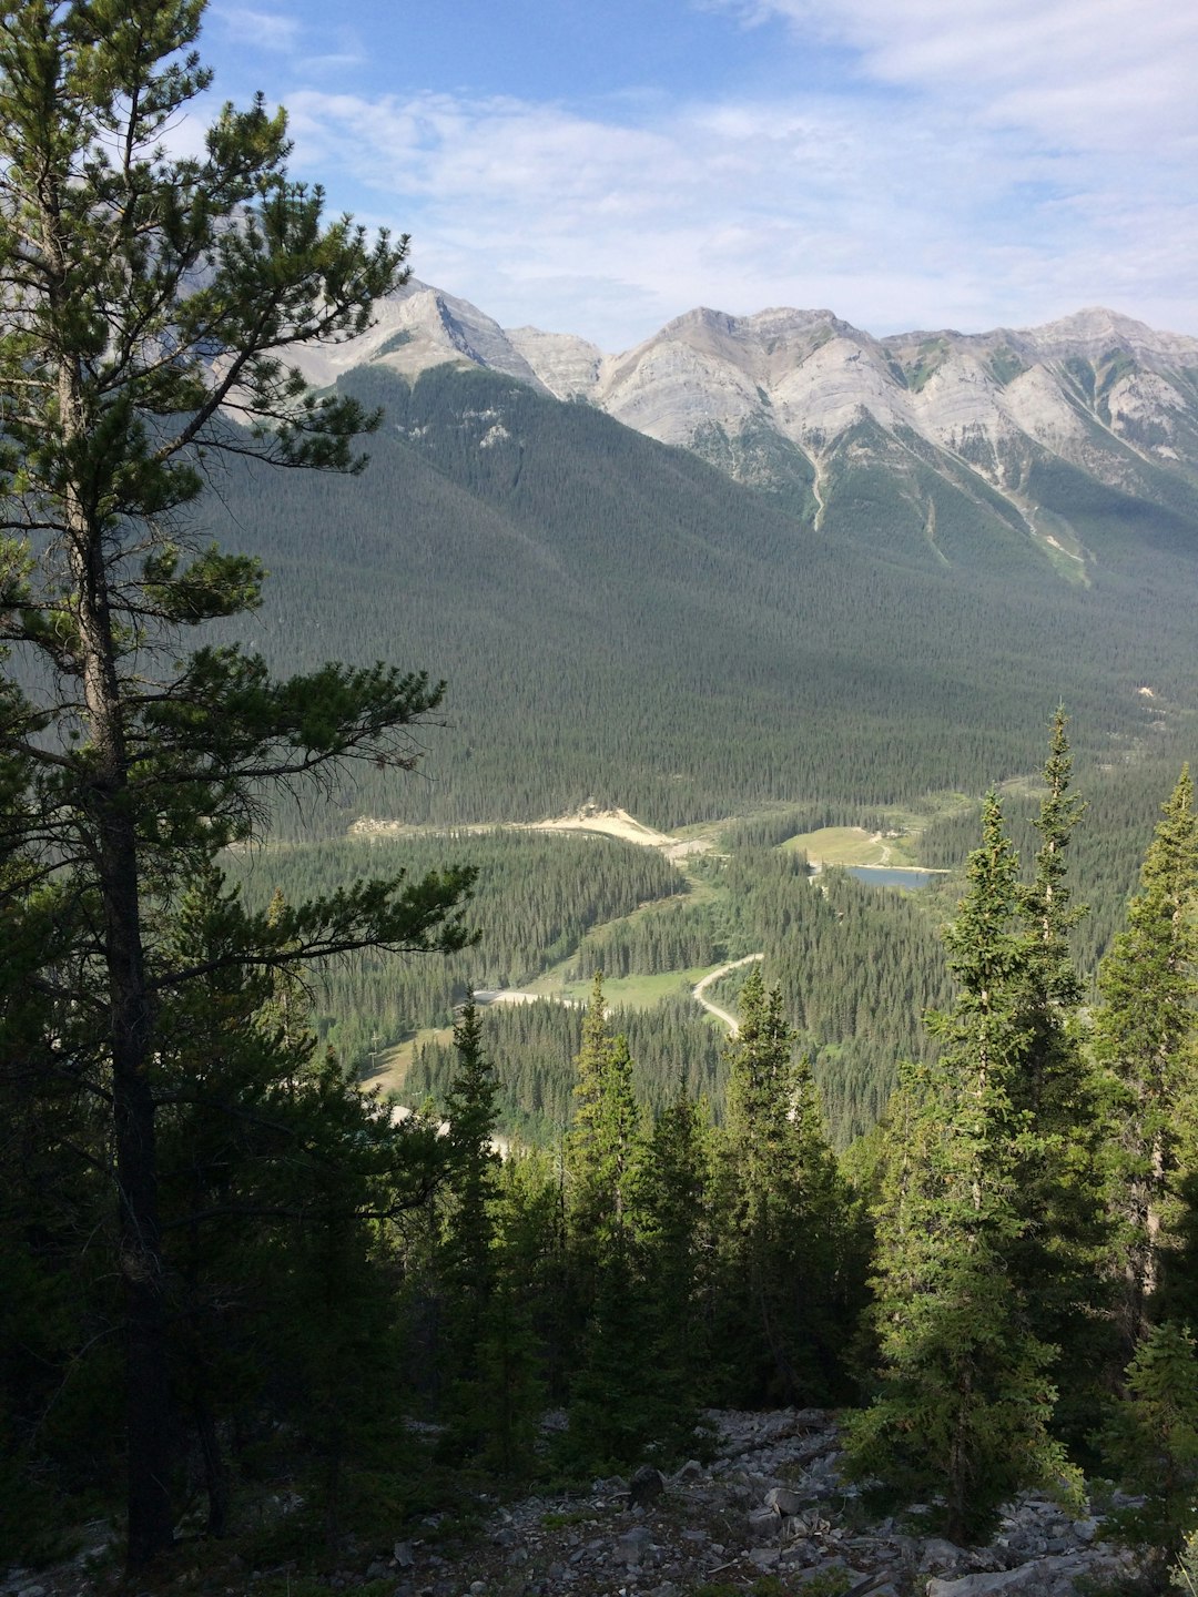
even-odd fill
[{"label": "grey stony ground in the foreground below the trees", "polygon": [[[837,1476],[839,1437],[815,1409],[711,1415],[716,1455],[663,1476],[596,1480],[583,1496],[494,1508],[473,1544],[450,1555],[438,1535],[409,1535],[327,1576],[369,1597],[1067,1597],[1126,1592],[1133,1554],[1043,1496],[1011,1506],[986,1547],[957,1547],[909,1524],[871,1524]],[[220,1592],[278,1591],[278,1570],[225,1570]],[[235,1581],[230,1584],[230,1578]],[[303,1591],[310,1581],[303,1581]],[[0,1597],[96,1591],[81,1560],[8,1571]]]}]

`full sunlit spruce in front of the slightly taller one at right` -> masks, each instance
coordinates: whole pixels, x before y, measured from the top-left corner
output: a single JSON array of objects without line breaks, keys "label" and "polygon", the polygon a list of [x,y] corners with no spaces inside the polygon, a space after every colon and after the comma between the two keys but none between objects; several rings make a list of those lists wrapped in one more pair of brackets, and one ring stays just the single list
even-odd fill
[{"label": "full sunlit spruce in front of the slightly taller one at right", "polygon": [[904,1072],[902,1142],[879,1215],[879,1391],[850,1426],[855,1474],[907,1501],[939,1495],[955,1540],[987,1535],[1016,1490],[1056,1485],[1065,1471],[1048,1431],[1054,1349],[1032,1335],[1011,1265],[1025,1226],[1014,1096],[1033,1036],[1030,939],[994,794],[968,883],[946,931],[957,1001],[931,1017],[941,1059]]}]

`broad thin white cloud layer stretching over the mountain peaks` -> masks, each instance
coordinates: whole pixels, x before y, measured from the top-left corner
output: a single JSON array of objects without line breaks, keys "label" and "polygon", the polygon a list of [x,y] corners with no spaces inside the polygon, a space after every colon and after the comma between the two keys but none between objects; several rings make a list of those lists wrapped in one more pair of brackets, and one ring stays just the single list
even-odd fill
[{"label": "broad thin white cloud layer stretching over the mountain peaks", "polygon": [[[768,97],[655,93],[585,110],[308,86],[284,94],[294,169],[321,177],[335,206],[411,232],[426,281],[506,326],[609,350],[698,303],[826,305],[872,332],[1025,326],[1112,303],[1198,331],[1198,11],[736,10],[792,24],[794,93],[778,72]],[[851,70],[803,72],[811,40],[839,65],[848,51]]]}]

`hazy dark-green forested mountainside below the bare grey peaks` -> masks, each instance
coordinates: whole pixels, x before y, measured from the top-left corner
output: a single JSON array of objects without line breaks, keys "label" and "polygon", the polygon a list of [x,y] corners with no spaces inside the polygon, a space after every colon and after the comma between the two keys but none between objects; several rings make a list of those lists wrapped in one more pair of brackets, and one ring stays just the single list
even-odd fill
[{"label": "hazy dark-green forested mountainside below the bare grey peaks", "polygon": [[[249,642],[281,663],[388,658],[449,680],[428,779],[342,794],[332,829],[363,811],[530,818],[586,798],[679,824],[775,798],[978,792],[1035,768],[1059,698],[1083,763],[1123,760],[1150,728],[1171,743],[1193,701],[1198,554],[1180,514],[1109,530],[1089,586],[1010,529],[963,527],[952,564],[925,562],[910,541],[923,511],[880,487],[815,532],[497,374],[353,382],[387,407],[361,478],[232,470],[211,501],[217,535],[273,577]],[[1105,495],[1073,519],[1097,543],[1117,513]]]}]

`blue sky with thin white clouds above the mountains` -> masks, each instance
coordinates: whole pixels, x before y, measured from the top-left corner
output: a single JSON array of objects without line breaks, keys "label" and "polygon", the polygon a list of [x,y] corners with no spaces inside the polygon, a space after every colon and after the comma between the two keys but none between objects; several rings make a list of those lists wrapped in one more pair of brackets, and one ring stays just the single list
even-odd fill
[{"label": "blue sky with thin white clouds above the mountains", "polygon": [[211,0],[219,101],[417,278],[618,353],[696,305],[1198,334],[1192,0]]}]

